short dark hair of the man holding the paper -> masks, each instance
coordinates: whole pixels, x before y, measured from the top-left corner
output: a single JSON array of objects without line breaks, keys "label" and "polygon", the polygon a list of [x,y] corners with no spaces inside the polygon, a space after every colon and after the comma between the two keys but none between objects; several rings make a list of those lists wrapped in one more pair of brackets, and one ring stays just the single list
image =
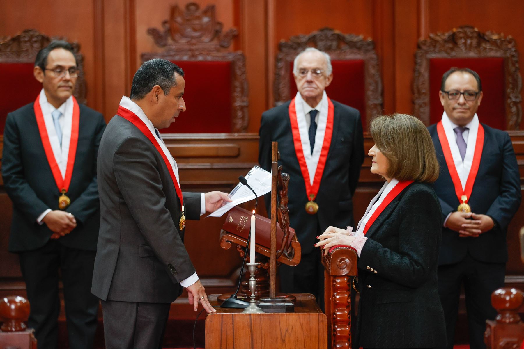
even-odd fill
[{"label": "short dark hair of the man holding the paper", "polygon": [[144,62],[133,77],[129,98],[140,100],[144,98],[155,85],[160,86],[164,95],[167,96],[171,87],[177,85],[174,73],[184,76],[182,68],[173,62],[159,58]]}]

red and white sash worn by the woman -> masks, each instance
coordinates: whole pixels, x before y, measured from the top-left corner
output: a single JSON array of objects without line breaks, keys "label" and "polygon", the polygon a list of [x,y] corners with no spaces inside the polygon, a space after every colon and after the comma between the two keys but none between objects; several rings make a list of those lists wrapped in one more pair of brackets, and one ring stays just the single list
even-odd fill
[{"label": "red and white sash worn by the woman", "polygon": [[[378,194],[369,202],[369,205],[364,213],[364,217],[358,222],[356,232],[361,232],[364,235],[369,230],[369,227],[373,225],[375,220],[380,213],[395,199],[402,190],[404,190],[408,185],[413,183],[413,181],[402,181],[399,182],[397,179],[393,178],[389,183],[385,183],[382,189]],[[377,200],[377,197],[380,196]]]}]

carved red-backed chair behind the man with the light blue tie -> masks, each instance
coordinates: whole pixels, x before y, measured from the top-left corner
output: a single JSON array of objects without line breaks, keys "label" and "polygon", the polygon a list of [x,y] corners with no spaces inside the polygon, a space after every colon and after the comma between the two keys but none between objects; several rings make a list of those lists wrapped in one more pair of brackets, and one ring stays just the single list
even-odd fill
[{"label": "carved red-backed chair behind the man with the light blue tie", "polygon": [[[33,76],[35,58],[38,51],[46,47],[53,39],[34,29],[24,30],[14,37],[4,37],[0,40],[0,133],[4,133],[7,113],[28,103],[34,102],[42,88]],[[79,103],[85,103],[85,80],[83,73],[83,57],[80,44],[71,43],[77,57],[80,74],[74,96]]]}]

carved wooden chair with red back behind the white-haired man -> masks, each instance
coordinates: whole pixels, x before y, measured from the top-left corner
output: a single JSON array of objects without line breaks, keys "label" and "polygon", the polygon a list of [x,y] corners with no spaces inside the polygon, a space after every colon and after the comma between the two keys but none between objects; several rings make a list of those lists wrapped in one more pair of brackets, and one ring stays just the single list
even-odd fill
[{"label": "carved wooden chair with red back behind the white-haired man", "polygon": [[293,61],[308,47],[329,53],[333,82],[326,88],[326,93],[337,102],[358,109],[366,129],[371,119],[382,110],[382,80],[375,43],[363,36],[323,28],[281,41],[275,66],[275,105],[285,103],[297,94]]}]

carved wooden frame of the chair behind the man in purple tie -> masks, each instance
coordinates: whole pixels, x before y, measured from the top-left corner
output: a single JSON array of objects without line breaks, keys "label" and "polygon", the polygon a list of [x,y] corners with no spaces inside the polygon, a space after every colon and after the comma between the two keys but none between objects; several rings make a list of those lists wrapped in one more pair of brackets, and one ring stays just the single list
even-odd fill
[{"label": "carved wooden frame of the chair behind the man in purple tie", "polygon": [[[508,130],[517,130],[522,117],[522,80],[515,40],[502,33],[481,32],[472,26],[453,28],[421,39],[415,53],[413,112],[429,125],[429,60],[431,58],[504,58],[506,71],[506,120]],[[432,92],[433,93],[433,92]]]}]

